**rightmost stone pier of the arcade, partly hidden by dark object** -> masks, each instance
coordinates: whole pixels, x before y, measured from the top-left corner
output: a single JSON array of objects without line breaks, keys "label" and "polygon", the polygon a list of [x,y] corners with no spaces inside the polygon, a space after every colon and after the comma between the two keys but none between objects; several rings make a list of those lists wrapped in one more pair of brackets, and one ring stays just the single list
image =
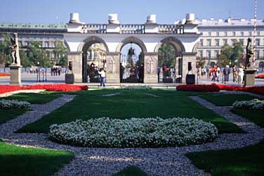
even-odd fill
[{"label": "rightmost stone pier of the arcade, partly hidden by dark object", "polygon": [[[196,68],[196,52],[185,52],[183,53],[183,73],[182,73],[182,83],[186,83],[186,75],[187,74],[195,74],[195,68]],[[192,64],[192,70],[188,70],[188,63]],[[196,79],[195,79],[196,80]]]}]

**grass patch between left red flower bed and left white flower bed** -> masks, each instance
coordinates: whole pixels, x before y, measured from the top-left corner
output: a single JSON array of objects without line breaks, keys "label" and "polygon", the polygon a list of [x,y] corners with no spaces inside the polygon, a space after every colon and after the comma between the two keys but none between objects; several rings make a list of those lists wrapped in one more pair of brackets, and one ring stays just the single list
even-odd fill
[{"label": "grass patch between left red flower bed and left white flower bed", "polygon": [[18,101],[27,101],[32,104],[42,104],[58,99],[60,94],[53,94],[53,92],[40,92],[37,93],[19,93],[11,96],[4,97],[2,99],[17,99]]}]

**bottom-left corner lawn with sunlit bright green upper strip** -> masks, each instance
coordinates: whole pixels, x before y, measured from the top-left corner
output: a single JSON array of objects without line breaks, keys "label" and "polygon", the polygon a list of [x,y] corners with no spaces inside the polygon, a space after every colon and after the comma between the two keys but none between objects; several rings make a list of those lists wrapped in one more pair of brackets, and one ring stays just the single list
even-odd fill
[{"label": "bottom-left corner lawn with sunlit bright green upper strip", "polygon": [[69,163],[74,154],[67,151],[24,148],[0,141],[1,176],[49,176]]}]

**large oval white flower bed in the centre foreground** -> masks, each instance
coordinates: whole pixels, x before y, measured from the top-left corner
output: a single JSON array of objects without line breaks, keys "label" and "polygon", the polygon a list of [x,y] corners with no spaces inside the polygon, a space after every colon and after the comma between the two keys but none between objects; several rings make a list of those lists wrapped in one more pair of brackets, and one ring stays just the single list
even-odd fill
[{"label": "large oval white flower bed in the centre foreground", "polygon": [[196,118],[97,118],[51,125],[51,140],[88,147],[167,147],[212,142],[218,130]]}]

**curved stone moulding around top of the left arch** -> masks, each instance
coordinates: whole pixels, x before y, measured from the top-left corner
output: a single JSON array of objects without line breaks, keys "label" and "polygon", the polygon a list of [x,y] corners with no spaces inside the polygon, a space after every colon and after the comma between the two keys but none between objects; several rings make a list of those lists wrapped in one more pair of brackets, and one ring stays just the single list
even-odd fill
[{"label": "curved stone moulding around top of the left arch", "polygon": [[105,41],[103,39],[101,39],[100,37],[96,37],[96,36],[91,36],[91,37],[87,37],[86,39],[84,39],[83,42],[81,42],[81,44],[79,44],[78,46],[78,51],[84,51],[86,49],[88,49],[89,46],[91,46],[92,44],[95,43],[101,43],[105,46],[105,50],[108,53],[109,49],[107,44],[105,43]]}]

